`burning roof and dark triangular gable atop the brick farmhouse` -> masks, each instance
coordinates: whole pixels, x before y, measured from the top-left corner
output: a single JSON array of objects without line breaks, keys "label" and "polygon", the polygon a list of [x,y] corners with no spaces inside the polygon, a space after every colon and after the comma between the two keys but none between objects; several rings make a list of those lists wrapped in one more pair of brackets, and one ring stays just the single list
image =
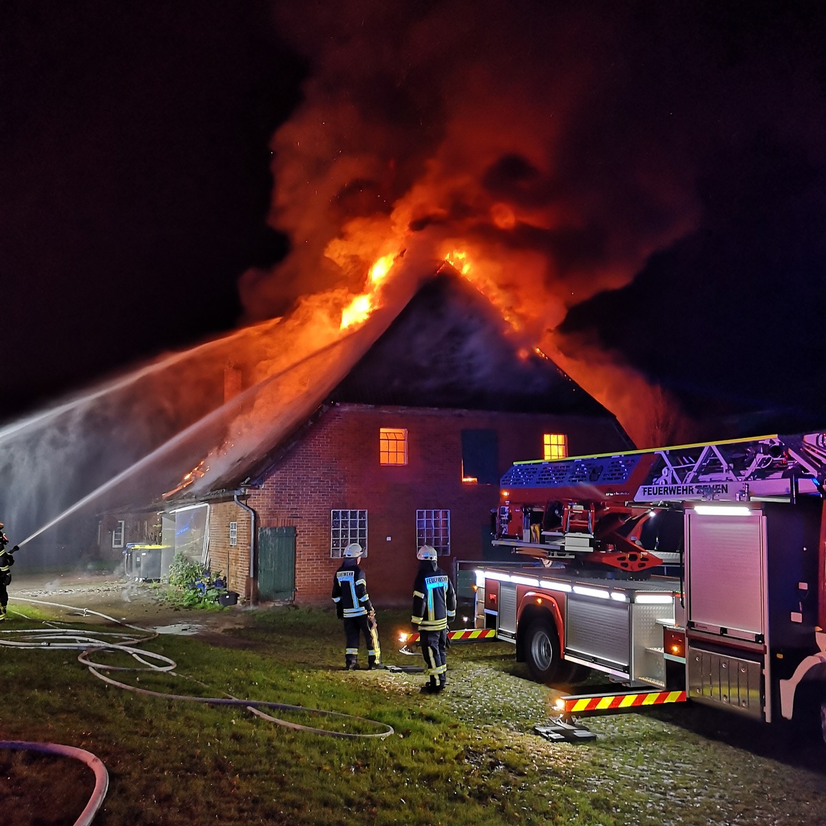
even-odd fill
[{"label": "burning roof and dark triangular gable atop the brick farmhouse", "polygon": [[[247,395],[249,394],[249,396]],[[399,309],[242,394],[221,445],[175,492],[232,489],[325,401],[613,416],[523,339],[453,268]]]}]

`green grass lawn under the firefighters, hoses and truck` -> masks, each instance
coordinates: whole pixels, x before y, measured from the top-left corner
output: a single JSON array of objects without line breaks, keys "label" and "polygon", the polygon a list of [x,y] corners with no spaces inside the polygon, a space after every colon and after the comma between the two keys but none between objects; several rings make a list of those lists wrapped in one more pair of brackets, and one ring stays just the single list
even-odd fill
[{"label": "green grass lawn under the firefighters, hoses and truck", "polygon": [[[8,625],[41,627],[43,615],[24,610],[29,622]],[[555,692],[527,681],[509,646],[454,645],[448,690],[421,695],[420,674],[341,670],[344,635],[332,610],[247,618],[220,641],[163,635],[142,646],[176,662],[174,674],[108,676],[150,691],[364,718],[268,711],[330,731],[389,725],[394,733],[344,739],[287,729],[243,706],[109,686],[72,651],[3,648],[0,738],[97,755],[110,777],[101,826],[826,824],[822,752],[772,744],[767,729],[681,708],[591,719],[596,741],[548,743],[533,727],[547,722]],[[379,612],[383,658],[419,666],[396,650],[407,619]],[[140,666],[122,653],[95,659]],[[0,768],[0,824],[74,824],[93,786],[81,764],[32,752],[0,751]]]}]

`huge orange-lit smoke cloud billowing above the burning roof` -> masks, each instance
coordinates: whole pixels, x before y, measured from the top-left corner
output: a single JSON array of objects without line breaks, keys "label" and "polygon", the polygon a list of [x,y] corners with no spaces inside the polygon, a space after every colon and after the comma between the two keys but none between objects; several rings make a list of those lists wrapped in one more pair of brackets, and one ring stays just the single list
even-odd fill
[{"label": "huge orange-lit smoke cloud billowing above the burning roof", "polygon": [[[695,226],[700,101],[675,106],[653,81],[644,30],[656,24],[550,5],[364,2],[277,18],[311,77],[272,142],[270,221],[292,252],[244,273],[250,319],[357,289],[388,252],[462,249],[482,292],[558,351],[570,306],[627,284]],[[595,392],[588,364],[567,364]],[[639,439],[639,396],[629,406],[597,385]]]}]

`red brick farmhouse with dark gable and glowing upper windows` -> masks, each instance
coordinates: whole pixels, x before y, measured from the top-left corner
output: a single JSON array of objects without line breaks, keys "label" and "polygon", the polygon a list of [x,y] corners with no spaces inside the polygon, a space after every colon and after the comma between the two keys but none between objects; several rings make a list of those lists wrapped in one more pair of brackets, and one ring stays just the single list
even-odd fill
[{"label": "red brick farmhouse with dark gable and glowing upper windows", "polygon": [[526,349],[472,287],[421,287],[335,389],[208,490],[102,517],[102,544],[202,558],[252,602],[324,604],[351,541],[373,601],[406,604],[427,542],[455,571],[488,558],[515,461],[633,447],[615,417]]}]

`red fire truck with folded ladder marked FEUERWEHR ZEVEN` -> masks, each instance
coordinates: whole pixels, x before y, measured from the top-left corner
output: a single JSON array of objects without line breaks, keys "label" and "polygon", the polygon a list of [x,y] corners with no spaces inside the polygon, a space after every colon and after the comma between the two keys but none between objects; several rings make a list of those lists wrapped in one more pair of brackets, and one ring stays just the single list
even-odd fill
[{"label": "red fire truck with folded ladder marked FEUERWEHR ZEVEN", "polygon": [[826,738],[824,492],[826,433],[515,463],[492,527],[521,562],[477,566],[477,628],[537,681],[603,672],[563,716],[691,700]]}]

